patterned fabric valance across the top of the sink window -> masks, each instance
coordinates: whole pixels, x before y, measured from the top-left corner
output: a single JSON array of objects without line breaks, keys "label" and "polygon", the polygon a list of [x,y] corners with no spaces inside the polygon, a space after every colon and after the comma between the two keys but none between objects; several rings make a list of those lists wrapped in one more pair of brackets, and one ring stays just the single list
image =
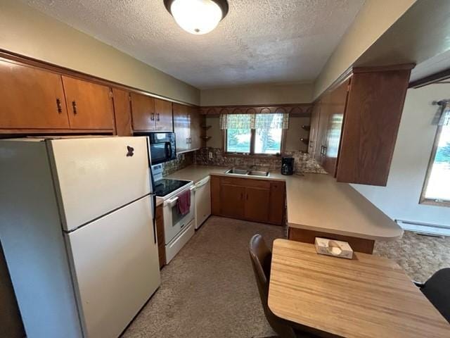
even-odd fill
[{"label": "patterned fabric valance across the top of the sink window", "polygon": [[220,129],[288,129],[289,114],[221,114]]}]

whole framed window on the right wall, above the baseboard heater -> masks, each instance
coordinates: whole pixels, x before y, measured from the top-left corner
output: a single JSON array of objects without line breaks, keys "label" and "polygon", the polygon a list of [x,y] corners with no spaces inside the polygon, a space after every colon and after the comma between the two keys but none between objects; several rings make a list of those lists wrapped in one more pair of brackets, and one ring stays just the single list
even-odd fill
[{"label": "whole framed window on the right wall, above the baseboard heater", "polygon": [[421,203],[450,206],[450,107],[442,108]]}]

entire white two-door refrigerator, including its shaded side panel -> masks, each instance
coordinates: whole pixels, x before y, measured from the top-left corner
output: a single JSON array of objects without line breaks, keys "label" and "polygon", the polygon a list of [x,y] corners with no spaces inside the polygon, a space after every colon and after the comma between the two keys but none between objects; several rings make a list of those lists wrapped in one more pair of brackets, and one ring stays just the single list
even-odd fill
[{"label": "entire white two-door refrigerator, including its shaded side panel", "polygon": [[0,240],[28,338],[118,337],[158,289],[147,142],[0,141]]}]

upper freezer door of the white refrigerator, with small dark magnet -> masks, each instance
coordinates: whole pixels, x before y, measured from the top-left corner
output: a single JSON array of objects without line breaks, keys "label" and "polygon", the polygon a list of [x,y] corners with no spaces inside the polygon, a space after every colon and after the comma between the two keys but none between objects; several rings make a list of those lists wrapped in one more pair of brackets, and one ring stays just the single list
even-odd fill
[{"label": "upper freezer door of the white refrigerator, with small dark magnet", "polygon": [[63,230],[151,191],[147,137],[53,139],[48,146]]}]

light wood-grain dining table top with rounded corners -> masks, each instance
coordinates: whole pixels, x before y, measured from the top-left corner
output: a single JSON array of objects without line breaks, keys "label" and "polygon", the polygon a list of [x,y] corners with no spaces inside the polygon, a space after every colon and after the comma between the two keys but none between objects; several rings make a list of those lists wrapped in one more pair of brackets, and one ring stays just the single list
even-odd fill
[{"label": "light wood-grain dining table top with rounded corners", "polygon": [[335,337],[450,337],[450,324],[394,261],[319,255],[287,239],[274,241],[269,308]]}]

